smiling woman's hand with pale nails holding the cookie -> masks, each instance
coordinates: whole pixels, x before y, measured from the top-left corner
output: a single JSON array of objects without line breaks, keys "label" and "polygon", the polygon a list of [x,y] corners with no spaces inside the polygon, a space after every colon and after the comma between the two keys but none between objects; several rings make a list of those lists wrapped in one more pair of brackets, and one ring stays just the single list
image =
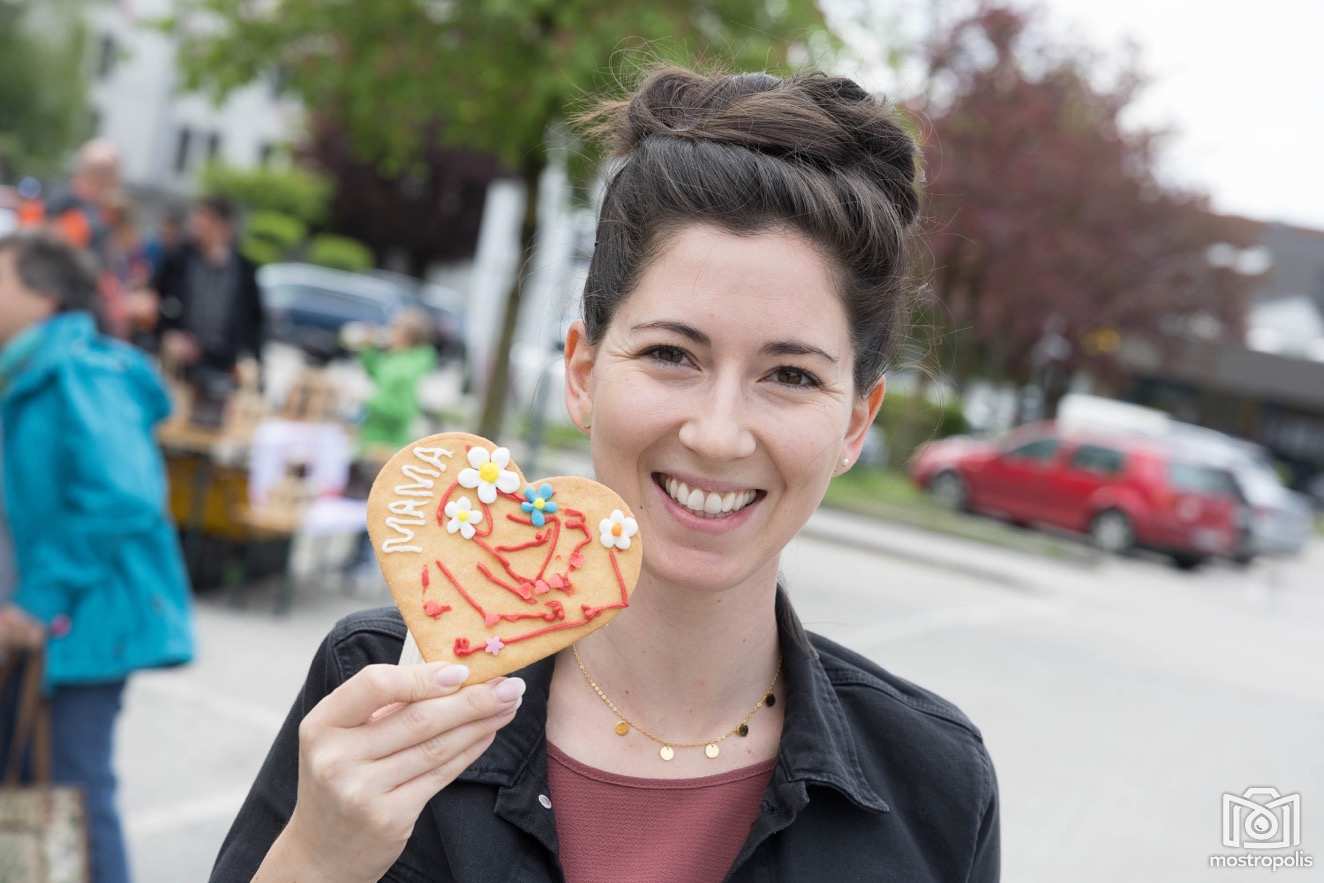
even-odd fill
[{"label": "smiling woman's hand with pale nails holding the cookie", "polygon": [[377,880],[433,794],[515,718],[524,682],[458,665],[368,666],[299,724],[299,790],[254,882]]}]

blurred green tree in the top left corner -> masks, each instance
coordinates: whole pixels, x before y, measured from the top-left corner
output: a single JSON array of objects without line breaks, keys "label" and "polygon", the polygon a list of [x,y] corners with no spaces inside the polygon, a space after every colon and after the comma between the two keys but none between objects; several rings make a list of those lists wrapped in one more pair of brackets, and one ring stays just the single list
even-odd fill
[{"label": "blurred green tree in the top left corner", "polygon": [[89,134],[79,8],[0,0],[0,181],[58,172]]}]

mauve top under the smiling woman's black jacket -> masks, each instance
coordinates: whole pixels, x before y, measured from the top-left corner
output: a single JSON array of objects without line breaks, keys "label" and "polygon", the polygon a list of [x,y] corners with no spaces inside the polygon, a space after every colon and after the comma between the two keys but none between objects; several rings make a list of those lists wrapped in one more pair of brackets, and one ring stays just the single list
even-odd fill
[{"label": "mauve top under the smiling woman's black jacket", "polygon": [[547,743],[560,862],[569,883],[726,879],[777,759],[699,778],[594,769]]}]

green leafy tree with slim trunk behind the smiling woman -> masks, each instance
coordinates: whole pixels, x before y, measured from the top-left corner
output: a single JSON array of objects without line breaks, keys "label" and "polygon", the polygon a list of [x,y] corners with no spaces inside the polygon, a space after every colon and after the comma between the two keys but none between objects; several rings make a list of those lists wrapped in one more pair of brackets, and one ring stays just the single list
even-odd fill
[{"label": "green leafy tree with slim trunk behind the smiling woman", "polygon": [[[188,0],[171,25],[188,85],[224,95],[279,68],[308,107],[336,109],[355,150],[385,167],[417,162],[421,134],[446,120],[442,138],[499,156],[523,180],[524,254],[548,127],[613,86],[616,53],[782,69],[793,46],[821,33],[813,0]],[[489,438],[500,432],[522,282],[487,377],[478,432]]]}]

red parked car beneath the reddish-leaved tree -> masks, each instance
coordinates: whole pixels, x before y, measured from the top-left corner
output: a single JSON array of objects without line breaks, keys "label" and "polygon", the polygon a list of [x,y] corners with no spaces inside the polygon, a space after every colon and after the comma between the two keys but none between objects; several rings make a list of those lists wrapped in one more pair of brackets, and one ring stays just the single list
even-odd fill
[{"label": "red parked car beneath the reddish-leaved tree", "polygon": [[929,442],[910,471],[952,508],[1088,534],[1108,552],[1158,549],[1182,568],[1235,553],[1245,530],[1226,470],[1153,440],[1035,424],[998,440]]}]

